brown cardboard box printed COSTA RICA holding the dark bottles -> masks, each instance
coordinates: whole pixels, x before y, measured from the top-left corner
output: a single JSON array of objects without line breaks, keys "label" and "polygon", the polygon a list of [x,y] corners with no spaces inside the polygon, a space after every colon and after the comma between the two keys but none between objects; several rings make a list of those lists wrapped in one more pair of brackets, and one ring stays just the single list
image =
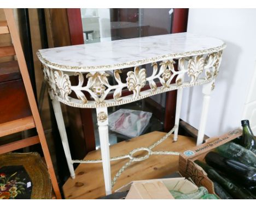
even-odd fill
[{"label": "brown cardboard box printed COSTA RICA holding the dark bottles", "polygon": [[222,136],[209,138],[206,143],[195,146],[179,155],[179,173],[185,178],[191,178],[195,184],[204,186],[209,193],[214,193],[213,182],[207,177],[207,173],[193,161],[204,161],[205,155],[213,151],[218,146],[230,142],[231,140],[242,135],[241,129],[230,131]]}]

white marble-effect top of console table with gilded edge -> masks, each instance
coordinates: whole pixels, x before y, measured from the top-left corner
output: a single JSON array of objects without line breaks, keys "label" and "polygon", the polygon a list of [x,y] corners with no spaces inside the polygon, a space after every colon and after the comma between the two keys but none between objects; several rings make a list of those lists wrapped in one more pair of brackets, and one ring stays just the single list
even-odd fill
[{"label": "white marble-effect top of console table with gilded edge", "polygon": [[94,72],[128,68],[161,60],[223,50],[222,40],[191,33],[147,36],[39,50],[50,68]]}]

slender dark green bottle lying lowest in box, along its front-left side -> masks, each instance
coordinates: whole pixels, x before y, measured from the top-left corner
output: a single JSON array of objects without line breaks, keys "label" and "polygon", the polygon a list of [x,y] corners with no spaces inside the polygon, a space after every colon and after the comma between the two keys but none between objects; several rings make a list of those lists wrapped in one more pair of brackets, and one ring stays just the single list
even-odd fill
[{"label": "slender dark green bottle lying lowest in box, along its front-left side", "polygon": [[229,179],[219,175],[211,166],[208,166],[206,163],[199,160],[196,160],[195,163],[205,170],[208,178],[218,182],[219,185],[221,185],[234,199],[254,199],[251,193],[246,192],[241,187],[235,185],[235,183],[232,183]]}]

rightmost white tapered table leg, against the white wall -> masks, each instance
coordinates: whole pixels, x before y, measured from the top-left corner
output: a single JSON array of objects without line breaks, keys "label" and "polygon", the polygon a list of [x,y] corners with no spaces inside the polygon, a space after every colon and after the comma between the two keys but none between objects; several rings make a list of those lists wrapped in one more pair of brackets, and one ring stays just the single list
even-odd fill
[{"label": "rightmost white tapered table leg, against the white wall", "polygon": [[201,112],[200,125],[197,135],[196,145],[200,145],[203,143],[203,137],[205,136],[205,127],[208,115],[208,108],[210,105],[211,92],[214,89],[214,80],[210,83],[203,85],[202,93],[203,93],[203,105]]}]

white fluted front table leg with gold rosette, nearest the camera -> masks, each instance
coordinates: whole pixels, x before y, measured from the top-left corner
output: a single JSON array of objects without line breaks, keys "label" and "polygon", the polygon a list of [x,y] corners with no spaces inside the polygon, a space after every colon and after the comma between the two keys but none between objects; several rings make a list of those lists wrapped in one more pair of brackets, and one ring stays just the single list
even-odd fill
[{"label": "white fluted front table leg with gold rosette, nearest the camera", "polygon": [[104,182],[106,195],[112,193],[111,188],[111,171],[109,156],[109,140],[108,140],[108,111],[107,107],[96,108],[98,120],[98,132],[100,134],[101,158],[104,174]]}]

